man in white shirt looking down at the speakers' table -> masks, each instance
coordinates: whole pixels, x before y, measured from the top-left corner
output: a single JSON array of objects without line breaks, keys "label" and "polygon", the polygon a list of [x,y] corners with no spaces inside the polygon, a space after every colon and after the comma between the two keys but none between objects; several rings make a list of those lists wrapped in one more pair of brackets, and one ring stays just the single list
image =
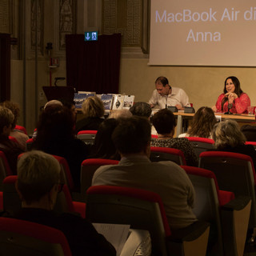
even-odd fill
[{"label": "man in white shirt looking down at the speakers' table", "polygon": [[158,105],[160,109],[176,106],[178,110],[184,110],[185,106],[190,106],[186,92],[181,88],[171,87],[166,77],[159,77],[155,81],[155,90],[149,103],[151,107]]}]

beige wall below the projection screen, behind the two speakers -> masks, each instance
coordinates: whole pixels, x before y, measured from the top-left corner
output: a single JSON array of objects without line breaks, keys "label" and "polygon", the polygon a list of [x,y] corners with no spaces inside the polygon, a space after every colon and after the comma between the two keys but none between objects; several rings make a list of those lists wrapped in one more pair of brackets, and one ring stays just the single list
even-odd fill
[{"label": "beige wall below the projection screen, behind the two speakers", "polygon": [[249,94],[251,105],[256,106],[256,72],[246,67],[148,66],[148,59],[123,58],[121,61],[119,92],[134,94],[135,101],[148,101],[154,90],[154,81],[166,76],[171,86],[182,87],[190,102],[198,110],[213,106],[222,93],[226,77],[234,75]]}]

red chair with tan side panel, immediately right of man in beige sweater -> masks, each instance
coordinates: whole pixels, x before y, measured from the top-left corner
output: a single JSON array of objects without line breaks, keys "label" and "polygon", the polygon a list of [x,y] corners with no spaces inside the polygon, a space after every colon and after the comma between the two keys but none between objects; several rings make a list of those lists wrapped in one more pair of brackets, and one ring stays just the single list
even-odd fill
[{"label": "red chair with tan side panel, immediately right of man in beige sweater", "polygon": [[[215,174],[194,166],[181,166],[190,177],[196,193],[194,214],[210,222],[209,255],[243,255],[250,218],[249,197],[218,190]],[[238,225],[239,224],[239,225]]]}]

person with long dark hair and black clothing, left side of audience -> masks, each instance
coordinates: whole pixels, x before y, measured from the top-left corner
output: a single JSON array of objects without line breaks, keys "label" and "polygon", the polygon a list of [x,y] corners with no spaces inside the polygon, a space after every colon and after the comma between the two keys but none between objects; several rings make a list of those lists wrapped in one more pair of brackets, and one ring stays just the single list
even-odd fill
[{"label": "person with long dark hair and black clothing, left side of audience", "polygon": [[42,150],[66,158],[74,185],[80,186],[81,163],[89,154],[89,147],[75,138],[74,115],[64,106],[48,106],[38,120],[38,135],[32,149]]}]

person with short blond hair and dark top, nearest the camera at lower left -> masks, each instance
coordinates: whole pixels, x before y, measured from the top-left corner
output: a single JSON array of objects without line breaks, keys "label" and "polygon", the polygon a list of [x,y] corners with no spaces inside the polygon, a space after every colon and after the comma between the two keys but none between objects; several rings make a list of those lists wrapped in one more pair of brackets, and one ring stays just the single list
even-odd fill
[{"label": "person with short blond hair and dark top, nearest the camera at lower left", "polygon": [[53,211],[60,185],[60,166],[50,154],[30,151],[18,161],[16,188],[22,210],[14,216],[62,230],[73,255],[115,255],[114,247],[86,219]]}]

